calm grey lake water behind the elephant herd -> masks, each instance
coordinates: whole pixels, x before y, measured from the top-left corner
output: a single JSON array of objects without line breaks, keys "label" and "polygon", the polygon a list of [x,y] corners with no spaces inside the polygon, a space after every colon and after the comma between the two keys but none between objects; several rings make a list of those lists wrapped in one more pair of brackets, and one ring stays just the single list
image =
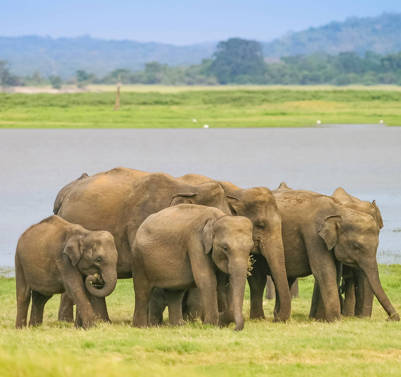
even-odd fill
[{"label": "calm grey lake water behind the elephant herd", "polygon": [[116,166],[199,173],[240,187],[280,182],[331,195],[342,186],[376,200],[378,261],[401,263],[401,127],[302,129],[0,130],[0,266],[17,240],[53,214],[61,187]]}]

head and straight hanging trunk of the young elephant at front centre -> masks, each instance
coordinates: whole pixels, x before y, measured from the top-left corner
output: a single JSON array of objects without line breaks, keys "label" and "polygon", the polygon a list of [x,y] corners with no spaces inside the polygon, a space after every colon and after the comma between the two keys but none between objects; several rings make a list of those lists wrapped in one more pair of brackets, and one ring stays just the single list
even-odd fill
[{"label": "head and straight hanging trunk of the young elephant at front centre", "polygon": [[244,327],[242,308],[248,258],[253,247],[252,228],[251,221],[243,216],[223,216],[207,220],[202,232],[205,253],[212,252],[219,270],[230,275],[236,331]]}]

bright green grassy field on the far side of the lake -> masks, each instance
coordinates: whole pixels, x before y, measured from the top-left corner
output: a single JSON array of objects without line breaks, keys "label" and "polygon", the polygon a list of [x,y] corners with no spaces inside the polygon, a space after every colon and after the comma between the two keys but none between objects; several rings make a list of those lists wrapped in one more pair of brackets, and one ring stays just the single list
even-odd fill
[{"label": "bright green grassy field on the far side of the lake", "polygon": [[[139,86],[115,93],[0,93],[0,128],[307,127],[322,123],[401,125],[401,92],[333,87],[292,89]],[[143,89],[143,90],[142,90]],[[169,92],[168,90],[172,90]],[[188,89],[188,88],[186,88]],[[389,89],[389,88],[387,88]],[[196,119],[196,122],[193,121]]]}]

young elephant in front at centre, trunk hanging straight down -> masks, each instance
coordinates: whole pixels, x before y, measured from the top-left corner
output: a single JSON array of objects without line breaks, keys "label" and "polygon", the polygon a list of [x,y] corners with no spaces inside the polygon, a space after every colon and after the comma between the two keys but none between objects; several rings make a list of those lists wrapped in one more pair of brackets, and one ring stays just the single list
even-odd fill
[{"label": "young elephant in front at centre, trunk hanging straight down", "polygon": [[[242,216],[194,204],[180,204],[149,216],[139,227],[132,249],[135,290],[133,326],[148,325],[148,304],[155,287],[163,288],[170,323],[182,321],[185,290],[197,286],[205,323],[218,325],[217,294],[232,290],[235,330],[242,330],[247,263],[253,247],[252,222]],[[216,272],[229,274],[229,287]]]}]

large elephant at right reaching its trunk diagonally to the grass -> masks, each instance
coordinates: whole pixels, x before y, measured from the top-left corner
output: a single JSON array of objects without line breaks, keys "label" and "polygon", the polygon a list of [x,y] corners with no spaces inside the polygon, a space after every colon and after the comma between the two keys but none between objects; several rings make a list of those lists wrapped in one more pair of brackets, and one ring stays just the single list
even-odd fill
[{"label": "large elephant at right reaching its trunk diagonally to the grass", "polygon": [[[399,315],[380,283],[376,260],[379,236],[373,217],[352,210],[330,196],[306,190],[282,190],[274,196],[282,217],[290,288],[296,278],[313,274],[320,287],[326,320],[338,320],[337,271],[344,264],[363,271],[373,293],[389,315],[388,320],[399,321]],[[248,278],[252,318],[261,317],[263,312],[263,290],[269,274],[265,261],[264,264],[263,260],[254,263],[252,275]],[[279,304],[276,300],[276,307]]]}]

